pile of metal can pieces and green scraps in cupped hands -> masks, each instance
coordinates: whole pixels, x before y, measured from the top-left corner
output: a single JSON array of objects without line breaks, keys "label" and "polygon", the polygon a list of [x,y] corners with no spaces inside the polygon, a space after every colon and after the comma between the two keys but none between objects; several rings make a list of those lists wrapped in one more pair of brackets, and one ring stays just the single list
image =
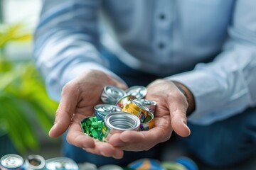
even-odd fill
[{"label": "pile of metal can pieces and green scraps in cupped hands", "polygon": [[81,120],[82,132],[107,142],[114,132],[154,128],[156,101],[144,99],[146,93],[144,86],[132,86],[127,91],[105,86],[101,94],[104,104],[95,106],[95,116]]}]

